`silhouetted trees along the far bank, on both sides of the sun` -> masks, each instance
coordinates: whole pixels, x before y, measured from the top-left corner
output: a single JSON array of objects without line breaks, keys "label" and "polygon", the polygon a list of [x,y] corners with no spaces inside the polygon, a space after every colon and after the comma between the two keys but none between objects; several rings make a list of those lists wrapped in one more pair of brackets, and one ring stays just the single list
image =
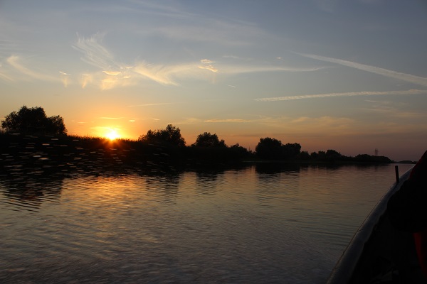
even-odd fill
[{"label": "silhouetted trees along the far bank, on both sides of the sun", "polygon": [[[19,111],[12,111],[4,121],[1,121],[1,129],[4,133],[22,133],[39,136],[67,136],[67,129],[61,116],[46,116],[42,107],[21,107]],[[147,131],[139,136],[138,143],[147,147],[162,147],[170,153],[179,153],[186,158],[201,160],[300,160],[300,161],[325,161],[325,162],[373,162],[391,163],[384,156],[357,155],[347,157],[332,149],[308,153],[301,151],[299,143],[282,143],[280,140],[270,137],[260,138],[255,146],[255,152],[240,146],[238,143],[227,146],[225,141],[220,140],[216,133],[204,132],[197,136],[191,146],[186,146],[181,130],[169,124],[165,129]]]}]

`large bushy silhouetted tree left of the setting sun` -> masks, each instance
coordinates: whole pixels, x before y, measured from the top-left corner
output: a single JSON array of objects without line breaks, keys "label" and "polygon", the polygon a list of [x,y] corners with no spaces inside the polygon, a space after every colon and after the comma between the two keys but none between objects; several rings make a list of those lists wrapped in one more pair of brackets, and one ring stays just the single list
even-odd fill
[{"label": "large bushy silhouetted tree left of the setting sun", "polygon": [[6,132],[20,132],[30,134],[66,135],[67,129],[61,116],[46,116],[42,107],[21,107],[19,111],[12,111],[1,127]]}]

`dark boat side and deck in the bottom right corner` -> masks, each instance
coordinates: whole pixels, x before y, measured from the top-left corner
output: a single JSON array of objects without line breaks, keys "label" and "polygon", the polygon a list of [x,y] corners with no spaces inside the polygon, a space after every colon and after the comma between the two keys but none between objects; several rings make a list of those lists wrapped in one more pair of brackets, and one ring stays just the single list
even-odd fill
[{"label": "dark boat side and deck in the bottom right corner", "polygon": [[412,234],[394,229],[386,214],[389,198],[409,173],[391,187],[354,234],[328,284],[427,283],[418,264]]}]

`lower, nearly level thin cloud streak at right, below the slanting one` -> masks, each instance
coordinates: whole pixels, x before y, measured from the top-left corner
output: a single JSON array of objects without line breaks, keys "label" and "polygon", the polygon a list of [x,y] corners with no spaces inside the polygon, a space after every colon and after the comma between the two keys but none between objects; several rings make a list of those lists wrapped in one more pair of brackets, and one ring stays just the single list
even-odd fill
[{"label": "lower, nearly level thin cloud streak at right, below the slanting one", "polygon": [[301,94],[288,97],[268,97],[255,99],[258,102],[277,102],[290,101],[293,99],[318,99],[327,97],[353,97],[353,96],[378,96],[378,95],[408,95],[408,94],[427,94],[426,89],[409,89],[406,91],[389,91],[389,92],[343,92],[329,94]]}]

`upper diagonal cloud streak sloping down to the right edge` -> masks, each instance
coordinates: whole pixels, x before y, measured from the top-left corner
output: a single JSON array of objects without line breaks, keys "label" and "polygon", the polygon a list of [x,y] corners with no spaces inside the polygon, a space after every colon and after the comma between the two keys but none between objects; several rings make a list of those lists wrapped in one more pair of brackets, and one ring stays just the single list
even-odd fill
[{"label": "upper diagonal cloud streak sloping down to the right edge", "polygon": [[413,84],[419,84],[421,86],[427,86],[427,78],[426,77],[418,77],[418,76],[411,75],[411,74],[396,72],[393,70],[388,70],[388,69],[375,67],[375,66],[371,66],[371,65],[364,65],[364,64],[357,63],[357,62],[352,62],[352,61],[347,61],[347,60],[342,60],[342,59],[337,59],[337,58],[327,58],[325,56],[304,54],[304,53],[296,53],[296,54],[304,56],[305,58],[312,58],[315,60],[332,62],[332,63],[336,63],[339,65],[352,67],[352,68],[355,68],[358,70],[364,70],[367,72],[375,73],[375,74],[382,75],[385,77],[391,77],[394,79],[410,82]]}]

